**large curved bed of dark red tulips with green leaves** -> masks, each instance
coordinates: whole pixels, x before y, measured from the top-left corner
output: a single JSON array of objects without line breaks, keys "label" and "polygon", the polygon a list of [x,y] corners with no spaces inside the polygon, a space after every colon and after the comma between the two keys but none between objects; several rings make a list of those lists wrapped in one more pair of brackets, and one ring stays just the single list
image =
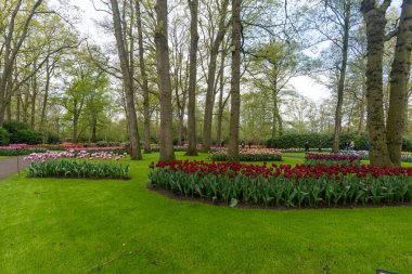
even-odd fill
[{"label": "large curved bed of dark red tulips with green leaves", "polygon": [[184,196],[266,206],[320,207],[411,203],[412,168],[256,166],[170,161],[151,165],[153,185]]}]

